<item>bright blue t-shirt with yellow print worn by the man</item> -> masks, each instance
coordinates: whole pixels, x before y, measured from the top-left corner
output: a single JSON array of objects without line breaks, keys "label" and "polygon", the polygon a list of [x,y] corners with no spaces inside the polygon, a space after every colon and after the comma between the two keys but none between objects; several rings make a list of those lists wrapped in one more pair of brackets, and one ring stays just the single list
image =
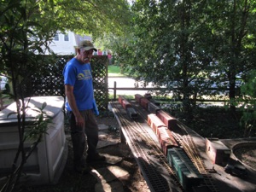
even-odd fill
[{"label": "bright blue t-shirt with yellow print worn by the man", "polygon": [[[73,58],[67,62],[63,70],[64,84],[73,86],[73,95],[75,97],[79,111],[93,108],[93,84],[90,70],[90,63],[81,64]],[[66,102],[68,111],[72,111],[68,102]]]}]

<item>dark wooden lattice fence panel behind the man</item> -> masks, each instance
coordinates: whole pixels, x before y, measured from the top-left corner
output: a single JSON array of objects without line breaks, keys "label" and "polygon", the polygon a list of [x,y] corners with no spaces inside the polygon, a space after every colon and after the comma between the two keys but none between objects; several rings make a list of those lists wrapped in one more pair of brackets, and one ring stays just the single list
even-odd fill
[{"label": "dark wooden lattice fence panel behind the man", "polygon": [[[73,55],[59,55],[53,64],[45,67],[44,74],[35,74],[26,82],[26,96],[65,96],[63,68]],[[108,108],[108,56],[93,55],[90,62],[94,77],[94,92],[99,109]],[[106,94],[107,93],[107,94]]]}]

